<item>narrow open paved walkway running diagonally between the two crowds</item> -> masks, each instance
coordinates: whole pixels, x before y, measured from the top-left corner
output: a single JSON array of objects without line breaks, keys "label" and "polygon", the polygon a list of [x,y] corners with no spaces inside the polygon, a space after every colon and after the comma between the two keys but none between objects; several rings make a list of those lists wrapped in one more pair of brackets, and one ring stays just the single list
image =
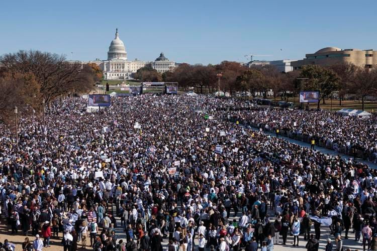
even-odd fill
[{"label": "narrow open paved walkway running diagonally between the two crowds", "polygon": [[[250,130],[253,130],[253,131],[256,131],[256,132],[260,132],[258,128],[251,128]],[[274,133],[271,133],[271,132],[263,132],[265,135],[269,135],[269,136],[272,136],[272,137],[276,137],[276,135]],[[310,144],[309,143],[306,143],[306,142],[302,142],[302,141],[298,141],[298,140],[294,140],[294,139],[291,139],[289,137],[285,137],[285,136],[280,136],[279,135],[279,138],[282,138],[282,139],[285,139],[286,141],[288,142],[291,142],[291,143],[294,143],[294,144],[297,144],[301,147],[305,147],[305,148],[310,148]],[[324,148],[324,147],[319,147],[319,146],[315,146],[315,150],[316,151],[319,151],[323,154],[328,154],[330,156],[341,156],[343,159],[345,160],[348,160],[348,159],[353,159],[352,156],[349,156],[349,155],[346,155],[346,154],[342,154],[342,153],[338,153],[334,150],[331,150],[331,149],[328,149],[328,148]],[[365,161],[363,159],[359,159],[359,158],[356,158],[356,161],[357,162],[361,162],[365,165],[368,165],[369,168],[373,168],[373,169],[377,169],[377,164],[373,163],[373,162],[370,162],[370,161]]]}]

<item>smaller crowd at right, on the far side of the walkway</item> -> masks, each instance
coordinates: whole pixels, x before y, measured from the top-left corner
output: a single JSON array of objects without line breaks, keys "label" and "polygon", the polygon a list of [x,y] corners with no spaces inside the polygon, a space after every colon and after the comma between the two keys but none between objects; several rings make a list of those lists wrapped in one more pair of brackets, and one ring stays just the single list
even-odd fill
[{"label": "smaller crowd at right, on the far side of the walkway", "polygon": [[231,115],[269,131],[284,130],[292,137],[306,136],[316,144],[370,161],[377,160],[377,113],[370,117],[343,116],[326,110],[254,108]]}]

